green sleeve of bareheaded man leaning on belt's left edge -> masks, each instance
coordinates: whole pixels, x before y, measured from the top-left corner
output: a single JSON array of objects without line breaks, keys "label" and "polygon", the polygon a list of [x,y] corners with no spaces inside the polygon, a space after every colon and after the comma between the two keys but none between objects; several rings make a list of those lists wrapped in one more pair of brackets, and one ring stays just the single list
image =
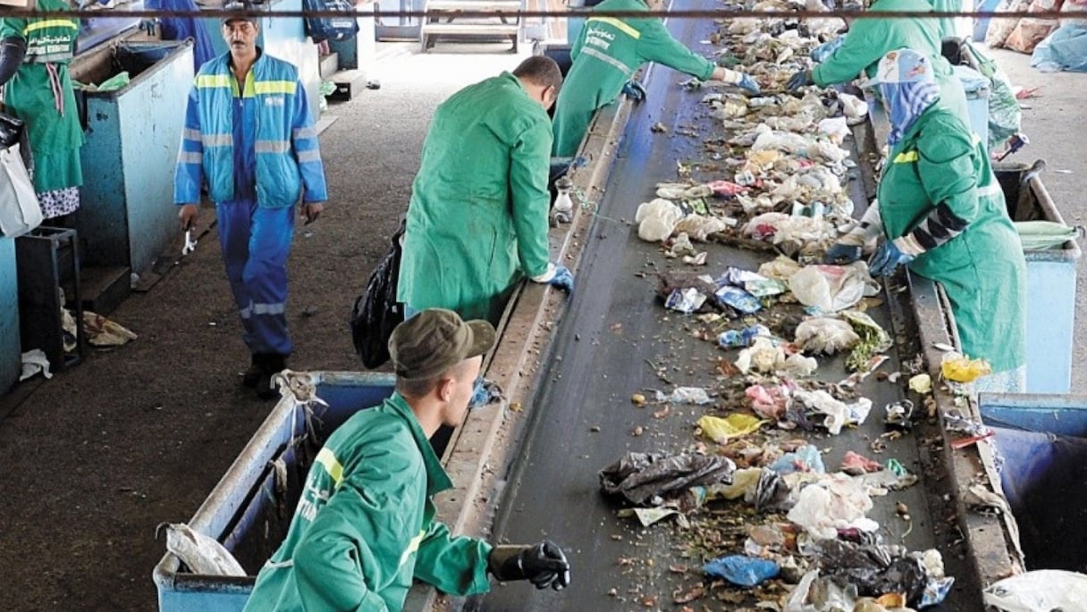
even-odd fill
[{"label": "green sleeve of bareheaded man leaning on belt's left edge", "polygon": [[548,268],[547,213],[551,198],[547,178],[553,138],[551,123],[541,116],[514,140],[510,151],[513,229],[521,270],[529,278]]}]

